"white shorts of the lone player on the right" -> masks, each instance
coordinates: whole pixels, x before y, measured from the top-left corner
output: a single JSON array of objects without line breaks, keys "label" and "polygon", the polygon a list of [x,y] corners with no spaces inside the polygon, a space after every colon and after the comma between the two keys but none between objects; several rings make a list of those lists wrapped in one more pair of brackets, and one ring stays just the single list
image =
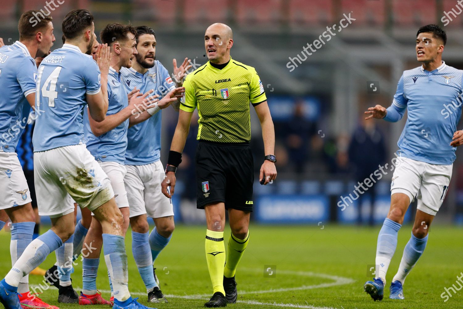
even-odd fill
[{"label": "white shorts of the lone player on the right", "polygon": [[413,202],[418,199],[418,209],[436,215],[449,189],[452,166],[430,164],[399,157],[391,182],[391,195],[404,193]]}]

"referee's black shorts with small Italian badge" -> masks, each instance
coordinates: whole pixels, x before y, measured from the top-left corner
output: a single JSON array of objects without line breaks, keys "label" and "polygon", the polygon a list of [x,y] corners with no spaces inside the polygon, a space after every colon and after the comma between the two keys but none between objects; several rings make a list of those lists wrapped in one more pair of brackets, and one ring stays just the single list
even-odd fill
[{"label": "referee's black shorts with small Italian badge", "polygon": [[224,202],[225,209],[252,211],[254,161],[249,144],[201,141],[196,149],[197,208]]}]

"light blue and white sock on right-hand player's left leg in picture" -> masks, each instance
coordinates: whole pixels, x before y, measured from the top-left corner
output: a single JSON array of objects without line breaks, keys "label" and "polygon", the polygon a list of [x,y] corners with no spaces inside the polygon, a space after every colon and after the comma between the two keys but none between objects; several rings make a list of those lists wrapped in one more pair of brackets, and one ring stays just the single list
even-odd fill
[{"label": "light blue and white sock on right-hand player's left leg in picture", "polygon": [[397,233],[402,225],[388,218],[384,220],[376,246],[376,278],[386,284],[386,273],[397,247]]}]

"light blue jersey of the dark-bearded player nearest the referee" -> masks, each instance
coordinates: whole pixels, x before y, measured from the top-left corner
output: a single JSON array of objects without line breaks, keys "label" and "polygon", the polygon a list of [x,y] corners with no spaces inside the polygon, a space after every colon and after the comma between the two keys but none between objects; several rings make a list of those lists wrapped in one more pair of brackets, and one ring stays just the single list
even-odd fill
[{"label": "light blue jersey of the dark-bearded player nearest the referee", "polygon": [[[154,89],[151,95],[160,95],[162,99],[174,86],[169,71],[159,61],[154,62],[154,67],[148,69],[145,74],[138,73],[135,69],[122,68],[122,78],[127,91],[133,87],[146,93]],[[127,151],[125,152],[125,164],[144,165],[151,164],[161,158],[161,111],[151,116],[148,120],[131,126],[127,132]]]}]

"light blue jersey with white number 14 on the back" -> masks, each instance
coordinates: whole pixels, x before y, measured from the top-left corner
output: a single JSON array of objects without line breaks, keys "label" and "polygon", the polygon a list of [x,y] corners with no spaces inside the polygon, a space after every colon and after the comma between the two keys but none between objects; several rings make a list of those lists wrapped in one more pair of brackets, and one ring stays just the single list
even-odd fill
[{"label": "light blue jersey with white number 14 on the back", "polygon": [[38,67],[34,152],[82,142],[86,95],[99,93],[100,85],[98,65],[77,46],[64,44],[45,57]]}]

